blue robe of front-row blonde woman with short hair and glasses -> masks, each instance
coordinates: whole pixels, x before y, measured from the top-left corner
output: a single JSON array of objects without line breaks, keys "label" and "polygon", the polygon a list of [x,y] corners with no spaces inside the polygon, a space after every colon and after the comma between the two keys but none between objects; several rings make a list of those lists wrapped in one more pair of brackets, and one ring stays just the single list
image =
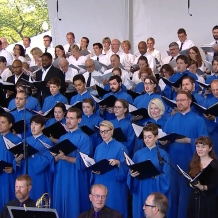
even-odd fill
[{"label": "blue robe of front-row blonde woman with short hair and glasses", "polygon": [[106,205],[118,210],[124,218],[128,218],[128,187],[126,184],[128,168],[124,160],[123,150],[128,153],[126,147],[115,139],[109,143],[103,141],[97,146],[94,155],[96,162],[102,159],[116,159],[120,161],[120,167],[116,167],[103,175],[93,173],[92,182],[93,184],[105,185],[108,188]]}]

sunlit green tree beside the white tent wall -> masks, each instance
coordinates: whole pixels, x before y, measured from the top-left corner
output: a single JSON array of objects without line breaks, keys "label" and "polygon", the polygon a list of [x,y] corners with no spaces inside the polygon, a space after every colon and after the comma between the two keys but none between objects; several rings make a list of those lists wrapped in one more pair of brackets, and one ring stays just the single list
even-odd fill
[{"label": "sunlit green tree beside the white tent wall", "polygon": [[38,35],[43,32],[42,23],[49,23],[46,0],[0,0],[0,5],[0,37],[9,43]]}]

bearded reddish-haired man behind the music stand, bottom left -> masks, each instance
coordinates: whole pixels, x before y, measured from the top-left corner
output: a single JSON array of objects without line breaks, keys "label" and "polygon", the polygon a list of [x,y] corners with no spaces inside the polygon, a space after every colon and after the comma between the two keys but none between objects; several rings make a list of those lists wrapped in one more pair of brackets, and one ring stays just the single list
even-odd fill
[{"label": "bearded reddish-haired man behind the music stand, bottom left", "polygon": [[7,206],[15,207],[35,207],[36,202],[29,197],[32,188],[32,179],[30,176],[23,174],[18,176],[15,182],[16,199],[5,204],[0,218],[11,218]]}]

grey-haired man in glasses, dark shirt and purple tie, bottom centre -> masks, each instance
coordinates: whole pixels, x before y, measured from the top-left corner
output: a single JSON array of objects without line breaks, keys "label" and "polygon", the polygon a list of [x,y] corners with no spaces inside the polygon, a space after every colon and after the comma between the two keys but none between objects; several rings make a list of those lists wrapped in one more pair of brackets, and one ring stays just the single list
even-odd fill
[{"label": "grey-haired man in glasses, dark shirt and purple tie, bottom centre", "polygon": [[123,218],[117,210],[105,206],[108,189],[102,184],[95,184],[91,187],[89,199],[93,208],[81,213],[78,218]]}]

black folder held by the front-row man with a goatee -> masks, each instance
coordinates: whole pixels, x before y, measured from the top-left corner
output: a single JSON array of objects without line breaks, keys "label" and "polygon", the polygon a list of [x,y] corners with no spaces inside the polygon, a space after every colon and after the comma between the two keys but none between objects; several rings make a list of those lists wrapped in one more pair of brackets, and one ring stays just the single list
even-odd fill
[{"label": "black folder held by the front-row man with a goatee", "polygon": [[68,139],[64,139],[63,141],[49,148],[50,152],[57,155],[59,154],[59,151],[62,151],[65,155],[68,155],[75,150],[77,150],[77,147]]}]

